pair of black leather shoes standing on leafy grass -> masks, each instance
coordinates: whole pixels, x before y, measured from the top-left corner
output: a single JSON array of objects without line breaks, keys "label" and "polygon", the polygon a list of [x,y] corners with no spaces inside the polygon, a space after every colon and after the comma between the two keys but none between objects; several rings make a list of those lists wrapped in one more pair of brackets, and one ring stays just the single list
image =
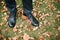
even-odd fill
[{"label": "pair of black leather shoes standing on leafy grass", "polygon": [[[14,9],[13,9],[14,10]],[[31,21],[33,26],[39,26],[39,22],[35,19],[31,12],[24,12],[24,15]],[[9,27],[13,28],[16,24],[16,11],[10,11],[8,18]]]}]

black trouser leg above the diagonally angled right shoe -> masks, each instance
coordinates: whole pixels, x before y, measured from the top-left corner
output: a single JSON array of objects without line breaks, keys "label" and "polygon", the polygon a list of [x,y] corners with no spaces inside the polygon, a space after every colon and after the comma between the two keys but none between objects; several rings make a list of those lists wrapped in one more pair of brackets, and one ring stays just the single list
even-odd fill
[{"label": "black trouser leg above the diagonally angled right shoe", "polygon": [[32,5],[32,0],[22,0],[23,3],[23,9],[24,11],[32,11],[33,5]]}]

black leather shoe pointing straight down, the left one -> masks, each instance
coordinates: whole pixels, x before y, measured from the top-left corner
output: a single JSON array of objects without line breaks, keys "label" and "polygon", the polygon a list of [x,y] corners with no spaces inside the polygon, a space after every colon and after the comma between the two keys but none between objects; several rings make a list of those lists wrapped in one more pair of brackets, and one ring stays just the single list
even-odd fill
[{"label": "black leather shoe pointing straight down, the left one", "polygon": [[10,15],[9,15],[9,18],[8,18],[8,25],[11,28],[13,28],[16,24],[16,12],[17,12],[17,9],[12,9],[10,11]]}]

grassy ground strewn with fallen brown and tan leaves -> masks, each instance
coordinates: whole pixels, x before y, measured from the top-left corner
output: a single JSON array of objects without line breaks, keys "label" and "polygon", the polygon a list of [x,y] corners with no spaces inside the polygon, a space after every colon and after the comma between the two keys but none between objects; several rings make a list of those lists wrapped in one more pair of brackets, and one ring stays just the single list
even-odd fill
[{"label": "grassy ground strewn with fallen brown and tan leaves", "polygon": [[17,22],[10,28],[9,11],[4,1],[0,1],[0,40],[60,40],[59,0],[33,0],[32,14],[39,21],[39,27],[32,26],[23,15],[21,0],[16,0],[16,4]]}]

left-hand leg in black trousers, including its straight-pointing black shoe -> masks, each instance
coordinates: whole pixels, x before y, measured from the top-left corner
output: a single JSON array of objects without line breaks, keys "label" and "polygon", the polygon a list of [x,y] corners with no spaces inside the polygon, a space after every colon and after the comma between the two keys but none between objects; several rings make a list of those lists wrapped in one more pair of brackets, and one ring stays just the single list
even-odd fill
[{"label": "left-hand leg in black trousers, including its straight-pointing black shoe", "polygon": [[8,18],[8,25],[9,27],[13,28],[16,24],[16,2],[15,0],[5,0],[6,7],[10,11],[10,15]]}]

